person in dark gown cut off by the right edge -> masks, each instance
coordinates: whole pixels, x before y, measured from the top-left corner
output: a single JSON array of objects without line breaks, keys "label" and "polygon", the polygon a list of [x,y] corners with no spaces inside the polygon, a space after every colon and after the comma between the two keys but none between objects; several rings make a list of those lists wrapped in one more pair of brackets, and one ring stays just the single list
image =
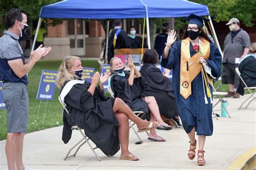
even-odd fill
[{"label": "person in dark gown cut off by the right edge", "polygon": [[[239,64],[239,72],[247,87],[256,87],[256,42],[250,46],[250,54],[245,55]],[[240,80],[237,93],[244,95],[245,84]]]}]

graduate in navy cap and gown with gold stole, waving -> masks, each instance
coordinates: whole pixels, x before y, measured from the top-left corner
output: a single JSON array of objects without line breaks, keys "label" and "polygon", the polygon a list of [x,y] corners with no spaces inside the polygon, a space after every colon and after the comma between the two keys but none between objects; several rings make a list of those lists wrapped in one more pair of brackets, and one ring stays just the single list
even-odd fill
[{"label": "graduate in navy cap and gown with gold stole, waving", "polygon": [[[204,32],[208,19],[190,15],[183,40],[176,40],[176,32],[169,33],[161,66],[173,69],[173,90],[181,122],[190,138],[188,158],[196,157],[195,132],[198,135],[198,165],[205,165],[204,144],[206,136],[213,133],[212,77],[206,74],[203,63],[211,68],[215,79],[220,76],[221,54]],[[193,56],[193,57],[192,57]],[[203,72],[201,71],[203,70]]]}]

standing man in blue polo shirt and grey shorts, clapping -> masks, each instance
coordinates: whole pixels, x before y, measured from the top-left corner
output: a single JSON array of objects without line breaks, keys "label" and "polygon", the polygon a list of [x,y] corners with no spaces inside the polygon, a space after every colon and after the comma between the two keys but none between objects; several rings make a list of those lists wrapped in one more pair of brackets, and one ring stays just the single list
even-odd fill
[{"label": "standing man in blue polo shirt and grey shorts, clapping", "polygon": [[25,169],[22,161],[23,138],[28,132],[29,97],[26,85],[33,65],[51,51],[42,45],[25,61],[19,37],[28,28],[25,12],[11,9],[4,18],[6,29],[0,38],[0,80],[3,81],[2,95],[7,111],[6,158],[8,169]]}]

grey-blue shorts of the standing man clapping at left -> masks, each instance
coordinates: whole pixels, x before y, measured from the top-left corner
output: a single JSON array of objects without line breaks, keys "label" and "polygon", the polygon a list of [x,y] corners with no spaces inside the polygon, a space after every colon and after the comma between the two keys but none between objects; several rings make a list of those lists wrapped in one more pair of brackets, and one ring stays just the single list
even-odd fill
[{"label": "grey-blue shorts of the standing man clapping at left", "polygon": [[27,133],[29,96],[24,83],[6,82],[2,96],[7,111],[7,132]]}]

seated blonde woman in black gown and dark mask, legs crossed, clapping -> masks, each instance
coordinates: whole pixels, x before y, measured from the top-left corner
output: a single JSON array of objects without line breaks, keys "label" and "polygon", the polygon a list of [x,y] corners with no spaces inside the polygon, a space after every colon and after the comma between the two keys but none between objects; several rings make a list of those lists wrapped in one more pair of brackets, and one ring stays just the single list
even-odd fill
[{"label": "seated blonde woman in black gown and dark mask, legs crossed, clapping", "polygon": [[[107,156],[120,149],[120,159],[138,160],[131,154],[129,145],[129,122],[131,119],[140,131],[156,128],[157,122],[147,122],[133,114],[132,110],[120,98],[107,98],[103,95],[103,84],[110,74],[100,76],[96,72],[91,83],[80,79],[83,67],[78,56],[66,57],[59,67],[57,86],[65,94],[64,102],[69,115],[63,113],[63,141],[68,143],[76,124],[85,130],[85,134]],[[99,87],[96,87],[99,82]]]}]

